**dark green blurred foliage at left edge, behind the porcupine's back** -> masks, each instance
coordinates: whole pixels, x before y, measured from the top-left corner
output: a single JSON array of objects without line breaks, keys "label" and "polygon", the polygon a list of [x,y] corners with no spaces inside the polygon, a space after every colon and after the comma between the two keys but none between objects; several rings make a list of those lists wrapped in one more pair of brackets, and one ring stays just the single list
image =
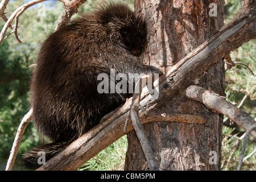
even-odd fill
[{"label": "dark green blurred foliage at left edge, behind the porcupine's back", "polygon": [[[2,52],[4,49],[6,51]],[[12,53],[9,50],[7,42],[3,43],[0,52],[0,158],[5,159],[1,162],[7,161],[19,122],[29,109],[29,52],[21,49]],[[0,169],[2,165],[0,163]]]}]

